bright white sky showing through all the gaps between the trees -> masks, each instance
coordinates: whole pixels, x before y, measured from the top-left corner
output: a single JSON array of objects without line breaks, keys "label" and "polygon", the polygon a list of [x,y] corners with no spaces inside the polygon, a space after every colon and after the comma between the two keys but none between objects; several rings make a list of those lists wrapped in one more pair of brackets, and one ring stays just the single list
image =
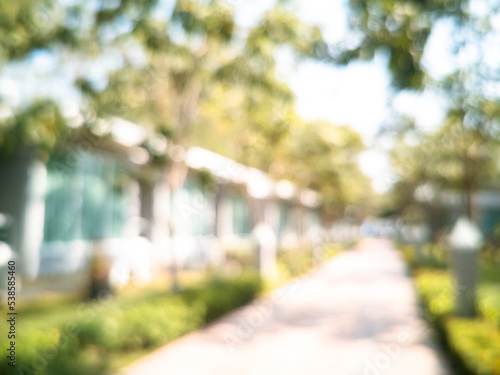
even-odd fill
[{"label": "bright white sky showing through all the gaps between the trees", "polygon": [[[251,24],[252,17],[265,9],[265,4],[269,6],[269,2],[262,0],[249,4],[244,0],[235,4],[242,24]],[[298,14],[305,22],[321,26],[327,42],[336,43],[342,40],[347,28],[345,4],[346,0],[300,0]],[[434,56],[446,53],[439,38],[431,42]],[[435,61],[427,60],[428,63]],[[297,111],[302,117],[350,125],[363,136],[370,150],[360,156],[359,162],[363,172],[372,178],[372,187],[377,192],[387,191],[393,182],[387,145],[375,138],[381,124],[390,116],[390,76],[385,66],[386,62],[381,56],[376,56],[369,63],[356,62],[344,68],[317,62],[301,63],[294,67],[286,53],[278,56],[280,76],[294,90]],[[452,67],[437,64],[431,68],[439,74],[445,74]],[[414,117],[417,124],[425,130],[436,127],[443,116],[440,101],[431,94],[400,94],[395,97],[392,106]]]}]

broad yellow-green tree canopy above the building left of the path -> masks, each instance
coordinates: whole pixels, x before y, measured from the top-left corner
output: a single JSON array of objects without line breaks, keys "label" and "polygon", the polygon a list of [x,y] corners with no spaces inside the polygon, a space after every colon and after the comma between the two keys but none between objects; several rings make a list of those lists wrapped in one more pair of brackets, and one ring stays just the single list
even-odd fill
[{"label": "broad yellow-green tree canopy above the building left of the path", "polygon": [[77,104],[68,111],[46,87],[17,102],[2,92],[2,154],[22,147],[50,153],[82,131],[95,133],[101,119],[122,117],[146,129],[141,147],[153,162],[168,154],[155,153],[151,139],[168,138],[322,191],[339,208],[363,195],[359,136],[306,124],[277,78],[283,48],[297,61],[332,61],[320,28],[301,21],[287,2],[241,28],[234,8],[219,0],[2,1],[0,69],[33,69],[48,56],[55,63],[40,74],[52,83],[62,73]]}]

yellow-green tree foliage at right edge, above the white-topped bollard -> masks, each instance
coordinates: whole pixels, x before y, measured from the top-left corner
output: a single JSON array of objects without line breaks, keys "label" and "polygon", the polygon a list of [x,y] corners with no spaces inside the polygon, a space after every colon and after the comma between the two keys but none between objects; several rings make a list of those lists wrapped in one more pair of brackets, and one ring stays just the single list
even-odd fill
[{"label": "yellow-green tree foliage at right edge, above the white-topped bollard", "polygon": [[[481,131],[483,126],[467,127],[463,119],[460,110],[450,111],[443,126],[421,134],[417,145],[409,146],[402,138],[398,141],[392,158],[399,180],[395,192],[401,208],[414,205],[417,189],[427,186],[434,194],[463,193],[464,213],[475,217],[474,193],[480,188],[495,187],[500,149],[497,139]],[[482,124],[488,128],[488,122]]]}]

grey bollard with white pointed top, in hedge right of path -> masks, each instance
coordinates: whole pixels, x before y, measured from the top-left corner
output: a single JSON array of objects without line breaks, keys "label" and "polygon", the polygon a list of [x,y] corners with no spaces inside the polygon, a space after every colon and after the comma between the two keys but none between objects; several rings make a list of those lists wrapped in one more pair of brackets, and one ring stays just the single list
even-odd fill
[{"label": "grey bollard with white pointed top, in hedge right of path", "polygon": [[479,228],[468,218],[459,218],[449,238],[458,316],[476,315],[477,255],[482,242]]}]

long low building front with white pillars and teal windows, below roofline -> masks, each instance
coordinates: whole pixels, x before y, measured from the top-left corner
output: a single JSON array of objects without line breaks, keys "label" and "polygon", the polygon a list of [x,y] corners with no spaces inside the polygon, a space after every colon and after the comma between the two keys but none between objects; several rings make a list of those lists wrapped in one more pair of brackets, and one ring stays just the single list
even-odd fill
[{"label": "long low building front with white pillars and teal windows, below roofline", "polygon": [[26,153],[0,164],[0,178],[0,212],[13,218],[8,241],[30,278],[83,274],[97,248],[144,279],[173,261],[216,266],[225,248],[257,251],[257,224],[289,247],[306,239],[311,225],[309,209],[250,196],[246,182],[224,181],[212,191],[191,168],[172,194],[166,178],[140,185],[128,162],[97,150],[45,164]]}]

